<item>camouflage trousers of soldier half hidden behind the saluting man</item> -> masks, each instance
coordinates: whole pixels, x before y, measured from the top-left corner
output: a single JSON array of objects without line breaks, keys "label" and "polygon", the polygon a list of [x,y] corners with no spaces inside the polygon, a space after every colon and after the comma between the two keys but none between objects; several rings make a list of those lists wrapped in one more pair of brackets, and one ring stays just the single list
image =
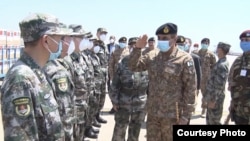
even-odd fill
[{"label": "camouflage trousers of soldier half hidden behind the saluting man", "polygon": [[127,127],[127,141],[138,141],[144,117],[144,111],[129,112],[127,109],[120,108],[115,113],[115,127],[112,141],[125,141]]}]

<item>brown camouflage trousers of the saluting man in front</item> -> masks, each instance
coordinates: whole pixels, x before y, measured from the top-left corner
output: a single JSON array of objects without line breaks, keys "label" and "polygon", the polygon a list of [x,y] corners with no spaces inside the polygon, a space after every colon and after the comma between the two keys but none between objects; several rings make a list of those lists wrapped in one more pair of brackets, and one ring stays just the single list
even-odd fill
[{"label": "brown camouflage trousers of the saluting man in front", "polygon": [[147,115],[147,141],[173,141],[176,119]]}]

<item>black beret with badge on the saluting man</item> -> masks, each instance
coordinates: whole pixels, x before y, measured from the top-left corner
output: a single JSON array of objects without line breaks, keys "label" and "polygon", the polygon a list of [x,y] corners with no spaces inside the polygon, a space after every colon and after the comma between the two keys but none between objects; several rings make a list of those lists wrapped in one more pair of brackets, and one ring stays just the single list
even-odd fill
[{"label": "black beret with badge on the saluting man", "polygon": [[164,34],[164,35],[168,35],[168,34],[177,34],[177,25],[174,23],[165,23],[163,25],[161,25],[160,27],[158,27],[158,29],[156,30],[155,34]]}]

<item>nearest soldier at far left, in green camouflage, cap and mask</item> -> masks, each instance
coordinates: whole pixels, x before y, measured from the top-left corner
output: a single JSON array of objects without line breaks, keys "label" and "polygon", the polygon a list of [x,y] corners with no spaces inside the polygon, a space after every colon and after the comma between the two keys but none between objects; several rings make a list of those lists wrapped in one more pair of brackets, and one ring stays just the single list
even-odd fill
[{"label": "nearest soldier at far left, in green camouflage, cap and mask", "polygon": [[[30,14],[19,23],[24,53],[9,69],[1,88],[5,141],[64,141],[59,103],[42,68],[62,50],[58,19]],[[38,53],[39,52],[39,53]]]}]

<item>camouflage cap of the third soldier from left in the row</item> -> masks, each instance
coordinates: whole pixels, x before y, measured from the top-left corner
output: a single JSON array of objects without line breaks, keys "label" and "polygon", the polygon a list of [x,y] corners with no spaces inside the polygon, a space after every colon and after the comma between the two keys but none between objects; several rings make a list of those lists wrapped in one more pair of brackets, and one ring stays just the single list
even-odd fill
[{"label": "camouflage cap of the third soldier from left in the row", "polygon": [[87,31],[83,30],[82,25],[71,24],[71,25],[69,25],[69,28],[73,30],[74,33],[72,35],[74,35],[74,36],[84,36],[86,38],[93,36],[91,32],[87,32]]}]

